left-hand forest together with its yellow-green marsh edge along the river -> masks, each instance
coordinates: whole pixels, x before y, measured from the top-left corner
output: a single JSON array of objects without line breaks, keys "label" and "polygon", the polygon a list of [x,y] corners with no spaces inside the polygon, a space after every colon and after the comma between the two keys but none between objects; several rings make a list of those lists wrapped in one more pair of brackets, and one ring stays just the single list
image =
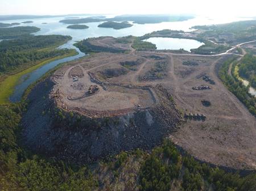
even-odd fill
[{"label": "left-hand forest together with its yellow-green marsh edge along the river", "polygon": [[0,104],[8,103],[22,75],[46,63],[73,56],[75,50],[55,49],[71,37],[61,35],[31,36],[0,42]]}]

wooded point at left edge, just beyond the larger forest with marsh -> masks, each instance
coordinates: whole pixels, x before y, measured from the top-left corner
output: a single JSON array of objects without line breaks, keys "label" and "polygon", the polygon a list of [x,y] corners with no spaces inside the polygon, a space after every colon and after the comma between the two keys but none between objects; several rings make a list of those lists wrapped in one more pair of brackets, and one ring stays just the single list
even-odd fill
[{"label": "wooded point at left edge, just beyond the larger forest with marsh", "polygon": [[30,36],[30,33],[38,31],[40,31],[40,28],[37,27],[0,28],[0,39],[15,39]]}]

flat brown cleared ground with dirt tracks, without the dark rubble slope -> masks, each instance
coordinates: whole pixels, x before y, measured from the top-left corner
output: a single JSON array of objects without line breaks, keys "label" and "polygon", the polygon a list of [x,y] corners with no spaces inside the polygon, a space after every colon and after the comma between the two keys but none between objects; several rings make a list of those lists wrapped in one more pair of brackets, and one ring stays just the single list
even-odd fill
[{"label": "flat brown cleared ground with dirt tracks, without the dark rubble slope", "polygon": [[[109,52],[57,70],[51,77],[55,85],[50,97],[64,111],[87,117],[123,116],[154,108],[162,99],[155,91],[160,84],[184,116],[180,127],[170,134],[176,145],[205,162],[255,169],[255,117],[217,77],[218,67],[236,54],[233,49],[213,56],[136,51],[133,41],[90,39],[90,45]],[[113,53],[117,49],[126,53]]]}]

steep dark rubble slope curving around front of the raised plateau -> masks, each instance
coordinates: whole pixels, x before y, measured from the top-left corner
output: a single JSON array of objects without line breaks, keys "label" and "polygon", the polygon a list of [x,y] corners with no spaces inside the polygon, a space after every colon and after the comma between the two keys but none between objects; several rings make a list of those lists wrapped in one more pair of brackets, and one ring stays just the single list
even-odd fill
[{"label": "steep dark rubble slope curving around front of the raised plateau", "polygon": [[23,139],[32,151],[75,163],[92,162],[134,148],[150,149],[175,131],[180,113],[162,86],[153,107],[122,116],[91,118],[64,112],[49,98],[54,83],[46,79],[28,96]]}]

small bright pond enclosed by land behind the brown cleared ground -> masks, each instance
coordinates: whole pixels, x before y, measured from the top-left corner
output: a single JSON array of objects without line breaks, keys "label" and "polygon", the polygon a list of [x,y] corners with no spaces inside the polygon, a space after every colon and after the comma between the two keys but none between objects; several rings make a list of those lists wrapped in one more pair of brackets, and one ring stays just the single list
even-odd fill
[{"label": "small bright pond enclosed by land behind the brown cleared ground", "polygon": [[144,41],[153,43],[156,45],[158,50],[179,50],[184,49],[190,52],[191,49],[199,48],[199,46],[204,45],[197,40],[192,39],[174,39],[167,37],[151,37]]}]

